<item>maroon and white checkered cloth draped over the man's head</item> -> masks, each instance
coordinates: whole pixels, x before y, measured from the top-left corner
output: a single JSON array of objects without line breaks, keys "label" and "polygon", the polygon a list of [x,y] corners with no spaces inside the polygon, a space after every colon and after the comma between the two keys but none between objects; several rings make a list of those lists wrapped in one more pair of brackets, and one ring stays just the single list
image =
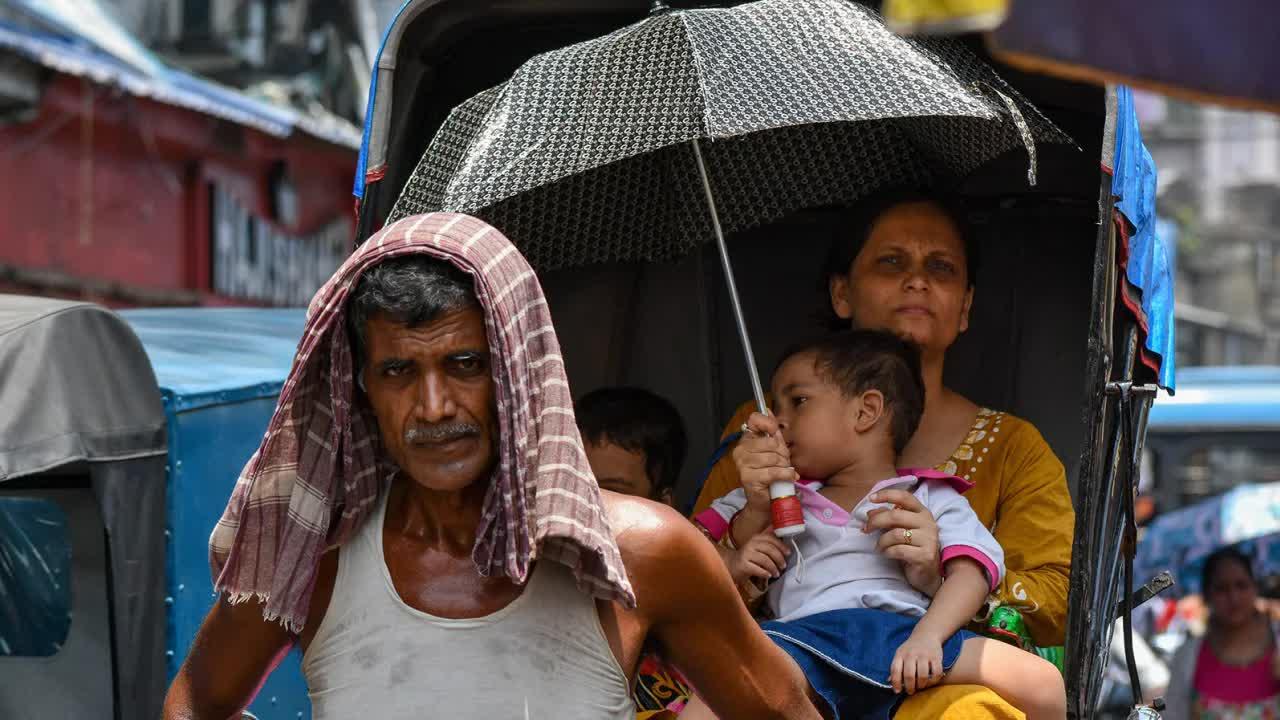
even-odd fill
[{"label": "maroon and white checkered cloth draped over the man's head", "polygon": [[474,278],[485,314],[499,420],[472,557],[481,574],[529,578],[534,560],[570,566],[579,587],[635,606],[582,450],[550,310],[532,268],[497,229],[467,215],[404,218],[370,238],[316,293],[306,332],[257,452],[209,541],[214,587],[298,632],[321,553],[370,516],[396,471],[378,425],[353,402],[347,300],[360,275],[410,254]]}]

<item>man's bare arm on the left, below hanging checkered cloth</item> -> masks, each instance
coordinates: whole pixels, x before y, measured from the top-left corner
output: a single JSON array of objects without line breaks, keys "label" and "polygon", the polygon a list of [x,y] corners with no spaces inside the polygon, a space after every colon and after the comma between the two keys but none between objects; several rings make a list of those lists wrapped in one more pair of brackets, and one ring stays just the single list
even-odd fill
[{"label": "man's bare arm on the left, below hanging checkered cloth", "polygon": [[238,719],[294,635],[262,619],[257,602],[219,598],[164,700],[164,720]]}]

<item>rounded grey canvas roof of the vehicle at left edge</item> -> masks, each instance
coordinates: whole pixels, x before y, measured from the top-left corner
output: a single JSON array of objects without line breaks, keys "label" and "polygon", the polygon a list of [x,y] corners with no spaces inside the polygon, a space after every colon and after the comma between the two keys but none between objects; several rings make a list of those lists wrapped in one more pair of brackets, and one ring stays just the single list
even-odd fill
[{"label": "rounded grey canvas roof of the vehicle at left edge", "polygon": [[0,482],[165,454],[151,364],[115,313],[0,295]]}]

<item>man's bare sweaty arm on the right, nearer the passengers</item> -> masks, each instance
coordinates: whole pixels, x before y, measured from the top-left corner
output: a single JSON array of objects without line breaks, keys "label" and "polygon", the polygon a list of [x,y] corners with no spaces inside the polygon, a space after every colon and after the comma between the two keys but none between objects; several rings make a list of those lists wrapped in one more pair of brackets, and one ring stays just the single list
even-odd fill
[{"label": "man's bare sweaty arm on the right, nearer the passengers", "polygon": [[[648,503],[646,503],[648,505]],[[618,533],[639,611],[721,717],[812,719],[800,669],[748,614],[709,542],[667,507]]]}]

